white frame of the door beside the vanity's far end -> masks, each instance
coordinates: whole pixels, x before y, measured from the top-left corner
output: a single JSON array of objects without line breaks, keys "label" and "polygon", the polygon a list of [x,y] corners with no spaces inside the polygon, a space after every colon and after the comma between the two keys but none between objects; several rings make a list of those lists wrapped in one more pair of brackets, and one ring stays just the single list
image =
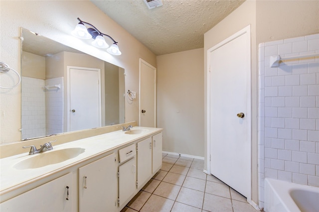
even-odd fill
[{"label": "white frame of the door beside the vanity's far end", "polygon": [[142,63],[149,66],[150,68],[154,69],[154,127],[157,127],[157,68],[155,68],[154,66],[152,66],[151,64],[149,64],[148,62],[146,62],[145,60],[143,60],[142,58],[140,58],[140,75],[139,75],[139,125],[141,125],[141,74],[142,74]]}]

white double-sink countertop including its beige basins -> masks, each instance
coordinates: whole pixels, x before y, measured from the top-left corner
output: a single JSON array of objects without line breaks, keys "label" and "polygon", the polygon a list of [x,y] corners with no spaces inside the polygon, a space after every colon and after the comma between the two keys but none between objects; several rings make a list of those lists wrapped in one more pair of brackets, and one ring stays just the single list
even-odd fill
[{"label": "white double-sink countertop including its beige basins", "polygon": [[[0,195],[18,189],[24,184],[34,182],[35,180],[42,179],[48,175],[80,164],[93,157],[107,153],[108,151],[120,148],[127,143],[148,137],[151,134],[159,133],[162,130],[162,128],[136,126],[129,131],[119,130],[109,132],[60,145],[54,145],[54,143],[52,143],[53,150],[34,155],[29,155],[29,152],[26,152],[2,158],[0,159]],[[27,151],[28,150],[29,148]],[[70,152],[68,152],[69,150]],[[51,156],[54,156],[54,151],[55,155],[59,155],[59,158],[56,156],[53,157],[53,159],[51,158]],[[45,154],[50,155],[47,155],[48,157],[46,157]],[[65,157],[66,160],[63,161],[63,157]],[[46,163],[46,161],[43,162],[41,160],[50,159],[52,161],[47,161],[47,163],[54,164],[43,166],[43,163]],[[38,161],[40,164],[36,164],[37,160],[41,161]],[[62,161],[56,162],[56,160]]]}]

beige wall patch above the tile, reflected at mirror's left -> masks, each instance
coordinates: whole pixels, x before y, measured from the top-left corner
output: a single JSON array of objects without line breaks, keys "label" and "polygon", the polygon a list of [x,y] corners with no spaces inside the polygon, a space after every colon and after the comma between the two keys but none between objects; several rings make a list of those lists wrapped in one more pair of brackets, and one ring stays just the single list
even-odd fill
[{"label": "beige wall patch above the tile, reflected at mirror's left", "polygon": [[21,66],[23,67],[21,73],[23,77],[45,80],[45,57],[23,52]]}]

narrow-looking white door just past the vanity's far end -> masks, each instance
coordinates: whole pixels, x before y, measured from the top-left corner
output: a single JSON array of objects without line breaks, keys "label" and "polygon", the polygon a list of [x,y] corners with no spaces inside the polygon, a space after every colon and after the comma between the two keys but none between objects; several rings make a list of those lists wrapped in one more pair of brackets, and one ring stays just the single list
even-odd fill
[{"label": "narrow-looking white door just past the vanity's far end", "polygon": [[140,59],[140,126],[157,127],[156,68]]}]

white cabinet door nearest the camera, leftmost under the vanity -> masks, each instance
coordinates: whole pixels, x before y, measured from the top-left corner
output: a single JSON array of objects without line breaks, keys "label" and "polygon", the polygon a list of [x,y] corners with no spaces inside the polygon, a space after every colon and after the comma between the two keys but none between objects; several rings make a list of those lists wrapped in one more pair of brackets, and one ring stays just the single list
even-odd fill
[{"label": "white cabinet door nearest the camera, leftmost under the vanity", "polygon": [[0,211],[71,212],[71,186],[72,173],[69,173],[1,203]]}]

